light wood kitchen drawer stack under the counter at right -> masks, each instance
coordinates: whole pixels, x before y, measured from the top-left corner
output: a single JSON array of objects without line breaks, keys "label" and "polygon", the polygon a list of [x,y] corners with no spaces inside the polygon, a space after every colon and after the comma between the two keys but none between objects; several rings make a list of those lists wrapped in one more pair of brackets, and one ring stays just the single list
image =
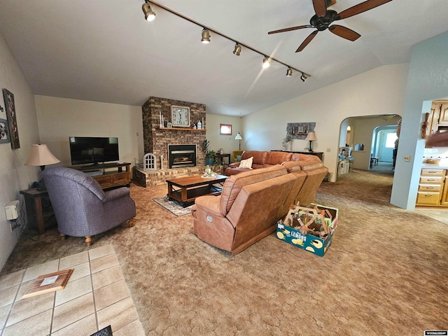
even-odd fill
[{"label": "light wood kitchen drawer stack under the counter at right", "polygon": [[[448,190],[448,183],[445,183],[445,174],[445,169],[421,169],[416,205],[437,207],[442,204],[442,192],[443,194],[448,193],[445,190]],[[446,205],[448,205],[448,195],[446,202]]]}]

